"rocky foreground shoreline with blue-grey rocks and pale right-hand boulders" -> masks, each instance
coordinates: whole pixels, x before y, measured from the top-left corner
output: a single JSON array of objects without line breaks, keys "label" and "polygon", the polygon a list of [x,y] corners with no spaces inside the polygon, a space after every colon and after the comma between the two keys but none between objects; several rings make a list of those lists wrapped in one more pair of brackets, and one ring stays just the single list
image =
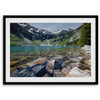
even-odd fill
[{"label": "rocky foreground shoreline with blue-grey rocks and pale right-hand boulders", "polygon": [[[69,52],[63,56],[41,57],[14,70],[11,77],[90,77],[91,46],[81,48],[81,54]],[[29,58],[30,59],[30,58]],[[24,62],[26,60],[23,60]],[[12,61],[11,68],[19,63]]]}]

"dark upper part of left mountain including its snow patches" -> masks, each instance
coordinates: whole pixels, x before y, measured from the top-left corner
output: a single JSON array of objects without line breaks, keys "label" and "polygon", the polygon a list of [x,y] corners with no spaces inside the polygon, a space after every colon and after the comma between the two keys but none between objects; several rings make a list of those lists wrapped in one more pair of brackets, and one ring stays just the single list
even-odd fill
[{"label": "dark upper part of left mountain including its snow patches", "polygon": [[51,32],[38,29],[31,26],[28,23],[11,23],[10,24],[10,33],[14,34],[20,38],[27,38],[29,40],[45,40],[54,37]]}]

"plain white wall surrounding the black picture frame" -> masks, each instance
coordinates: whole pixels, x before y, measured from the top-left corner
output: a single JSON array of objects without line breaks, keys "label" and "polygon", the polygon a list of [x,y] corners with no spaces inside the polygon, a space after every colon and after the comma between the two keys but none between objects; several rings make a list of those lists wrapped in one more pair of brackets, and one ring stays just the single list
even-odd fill
[{"label": "plain white wall surrounding the black picture frame", "polygon": [[[1,0],[0,1],[0,100],[94,100],[98,86],[3,86],[3,15],[100,15],[99,0]],[[100,35],[99,35],[100,36]]]}]

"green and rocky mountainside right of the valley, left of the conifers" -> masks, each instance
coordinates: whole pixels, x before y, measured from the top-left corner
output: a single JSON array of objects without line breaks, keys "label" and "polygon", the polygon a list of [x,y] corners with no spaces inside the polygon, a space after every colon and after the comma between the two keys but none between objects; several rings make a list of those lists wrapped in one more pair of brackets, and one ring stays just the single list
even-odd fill
[{"label": "green and rocky mountainside right of the valley, left of the conifers", "polygon": [[56,39],[51,39],[50,43],[53,45],[77,45],[77,42],[81,35],[81,27],[75,30],[62,30],[59,34],[57,34]]}]

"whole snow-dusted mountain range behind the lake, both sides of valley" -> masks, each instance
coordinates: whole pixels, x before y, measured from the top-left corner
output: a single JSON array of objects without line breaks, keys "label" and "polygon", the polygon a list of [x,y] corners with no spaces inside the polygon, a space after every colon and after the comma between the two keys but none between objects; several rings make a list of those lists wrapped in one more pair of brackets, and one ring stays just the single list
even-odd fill
[{"label": "whole snow-dusted mountain range behind the lake, both sides of valley", "polygon": [[81,26],[75,30],[65,29],[56,32],[49,32],[38,29],[28,23],[10,24],[10,43],[11,46],[19,45],[41,45],[41,46],[65,46],[77,45],[80,39]]}]

